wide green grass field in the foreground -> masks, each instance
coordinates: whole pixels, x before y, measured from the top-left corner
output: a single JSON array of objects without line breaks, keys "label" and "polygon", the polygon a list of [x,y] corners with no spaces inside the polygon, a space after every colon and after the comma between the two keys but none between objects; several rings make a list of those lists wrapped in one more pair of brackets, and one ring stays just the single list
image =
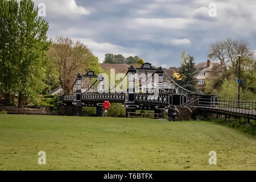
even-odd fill
[{"label": "wide green grass field in the foreground", "polygon": [[205,121],[2,114],[0,153],[0,170],[256,170],[255,137]]}]

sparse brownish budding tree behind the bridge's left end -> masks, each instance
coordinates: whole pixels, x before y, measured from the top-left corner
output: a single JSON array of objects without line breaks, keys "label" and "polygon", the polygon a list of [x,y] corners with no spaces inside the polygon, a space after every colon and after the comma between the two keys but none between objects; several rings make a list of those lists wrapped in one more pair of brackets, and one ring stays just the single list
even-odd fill
[{"label": "sparse brownish budding tree behind the bridge's left end", "polygon": [[71,91],[77,74],[84,72],[89,61],[93,59],[92,52],[84,44],[63,37],[56,38],[48,55],[57,67],[64,94]]}]

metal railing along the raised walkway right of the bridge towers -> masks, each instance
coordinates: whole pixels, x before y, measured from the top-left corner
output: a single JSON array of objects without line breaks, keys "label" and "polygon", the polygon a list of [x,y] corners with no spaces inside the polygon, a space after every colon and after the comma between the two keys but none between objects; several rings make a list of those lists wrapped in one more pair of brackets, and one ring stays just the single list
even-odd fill
[{"label": "metal railing along the raised walkway right of the bridge towers", "polygon": [[200,107],[219,109],[241,114],[256,114],[256,101],[214,100],[200,98]]}]

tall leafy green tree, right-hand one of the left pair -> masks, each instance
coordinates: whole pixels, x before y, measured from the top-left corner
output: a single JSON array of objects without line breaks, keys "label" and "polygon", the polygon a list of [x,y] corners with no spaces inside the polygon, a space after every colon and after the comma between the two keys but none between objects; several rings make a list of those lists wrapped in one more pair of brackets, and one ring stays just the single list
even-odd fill
[{"label": "tall leafy green tree, right-hand one of the left pair", "polygon": [[43,82],[48,59],[46,51],[51,41],[47,39],[48,23],[38,17],[38,9],[34,9],[31,0],[20,1],[17,23],[18,107],[23,107],[24,98],[36,97],[46,86]]}]

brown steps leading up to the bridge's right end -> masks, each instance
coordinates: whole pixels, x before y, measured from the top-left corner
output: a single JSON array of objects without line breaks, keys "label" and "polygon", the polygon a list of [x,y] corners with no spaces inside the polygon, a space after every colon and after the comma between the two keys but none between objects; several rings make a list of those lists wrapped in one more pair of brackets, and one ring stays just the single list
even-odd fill
[{"label": "brown steps leading up to the bridge's right end", "polygon": [[177,109],[177,121],[189,121],[191,115],[198,109],[199,99],[192,98],[187,103],[176,106]]}]

